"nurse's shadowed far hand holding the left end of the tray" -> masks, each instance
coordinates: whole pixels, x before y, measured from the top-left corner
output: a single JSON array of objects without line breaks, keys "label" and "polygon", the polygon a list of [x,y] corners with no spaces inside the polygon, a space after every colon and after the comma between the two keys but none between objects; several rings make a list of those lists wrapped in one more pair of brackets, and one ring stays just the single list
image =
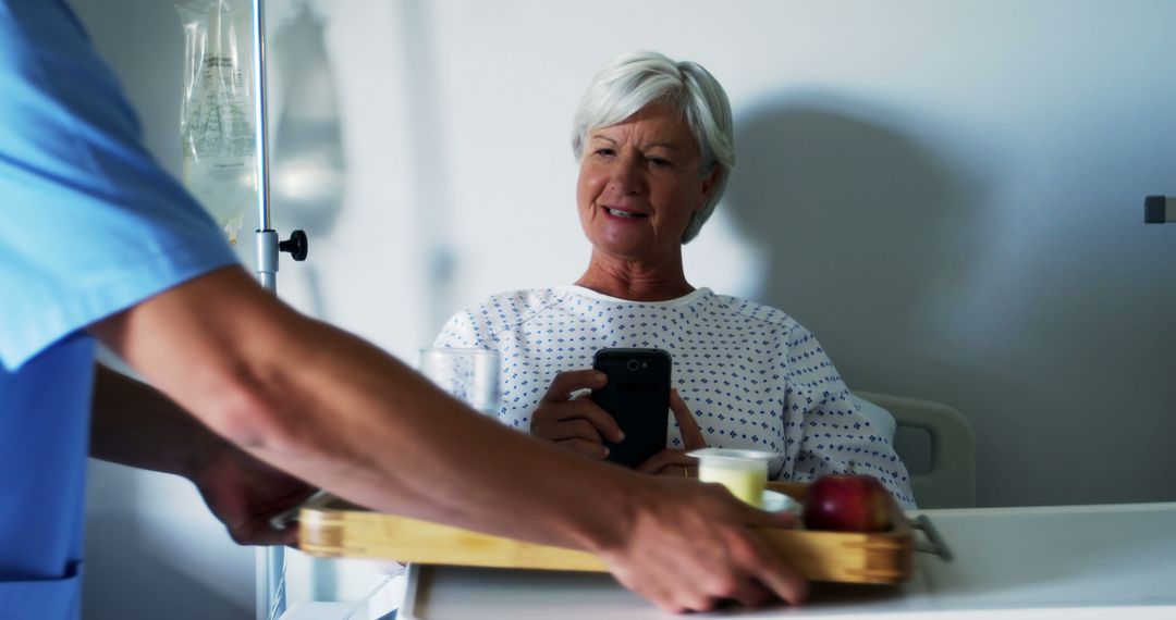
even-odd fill
[{"label": "nurse's shadowed far hand holding the left end of the tray", "polygon": [[315,488],[222,445],[192,477],[205,504],[239,545],[294,545],[298,527],[269,526],[269,518],[301,504]]}]

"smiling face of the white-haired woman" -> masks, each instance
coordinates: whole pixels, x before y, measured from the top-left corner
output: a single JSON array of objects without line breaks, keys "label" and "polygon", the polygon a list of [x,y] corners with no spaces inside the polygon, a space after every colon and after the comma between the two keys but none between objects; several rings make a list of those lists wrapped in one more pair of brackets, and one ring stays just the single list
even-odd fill
[{"label": "smiling face of the white-haired woman", "polygon": [[589,132],[576,183],[588,241],[621,260],[681,252],[690,215],[706,203],[716,175],[703,175],[699,157],[684,119],[663,103]]}]

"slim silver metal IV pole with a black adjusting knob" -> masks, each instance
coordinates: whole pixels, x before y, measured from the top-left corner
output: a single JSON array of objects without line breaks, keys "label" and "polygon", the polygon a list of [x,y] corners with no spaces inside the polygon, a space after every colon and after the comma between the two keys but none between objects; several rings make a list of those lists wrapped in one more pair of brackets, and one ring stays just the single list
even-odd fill
[{"label": "slim silver metal IV pole with a black adjusting knob", "polygon": [[[278,241],[278,231],[270,225],[269,213],[269,143],[267,142],[266,112],[266,19],[262,0],[253,0],[253,83],[256,178],[258,178],[258,231],[256,264],[261,287],[278,294],[278,254],[290,252],[295,261],[305,261],[307,236],[301,230],[290,232],[287,241]],[[286,550],[281,545],[258,550],[258,619],[270,620],[286,613]]]}]

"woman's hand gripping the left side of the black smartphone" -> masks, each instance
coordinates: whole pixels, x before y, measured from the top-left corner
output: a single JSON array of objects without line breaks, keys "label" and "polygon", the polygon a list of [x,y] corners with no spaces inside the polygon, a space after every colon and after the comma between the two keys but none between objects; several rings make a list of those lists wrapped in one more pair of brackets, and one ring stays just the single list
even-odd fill
[{"label": "woman's hand gripping the left side of the black smartphone", "polygon": [[560,372],[539,402],[530,418],[530,433],[554,442],[560,447],[594,459],[608,456],[604,439],[617,443],[624,438],[613,416],[596,406],[579,390],[603,388],[608,377],[603,372],[584,369]]}]

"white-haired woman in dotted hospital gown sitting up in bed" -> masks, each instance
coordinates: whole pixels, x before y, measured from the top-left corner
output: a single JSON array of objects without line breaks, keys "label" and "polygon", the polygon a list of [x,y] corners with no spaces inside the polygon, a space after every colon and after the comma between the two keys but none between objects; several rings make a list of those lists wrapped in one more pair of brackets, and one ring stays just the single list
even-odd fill
[{"label": "white-haired woman in dotted hospital gown sitting up in bed", "polygon": [[[602,348],[659,348],[674,360],[676,425],[641,467],[682,476],[686,451],[767,450],[769,477],[856,472],[913,505],[907,470],[871,426],[816,338],[784,312],[696,289],[682,244],[710,217],[735,166],[727,94],[700,65],[656,53],[616,58],[576,112],[576,203],[592,242],[573,285],[495,295],[454,316],[437,346],[501,352],[500,419],[603,458],[613,418],[583,398],[604,377]],[[691,416],[693,411],[693,416]]]}]

